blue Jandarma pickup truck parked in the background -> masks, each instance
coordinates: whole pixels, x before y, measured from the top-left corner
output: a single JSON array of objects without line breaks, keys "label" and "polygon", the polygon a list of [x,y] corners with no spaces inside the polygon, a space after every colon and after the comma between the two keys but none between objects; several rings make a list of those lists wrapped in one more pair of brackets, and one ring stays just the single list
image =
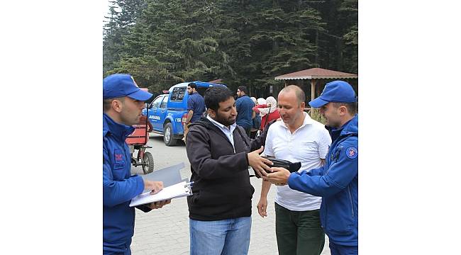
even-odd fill
[{"label": "blue Jandarma pickup truck parked in the background", "polygon": [[[163,142],[167,146],[174,146],[184,136],[184,122],[187,119],[187,84],[193,82],[197,91],[204,96],[206,89],[212,86],[226,86],[203,81],[183,82],[172,86],[168,94],[157,96],[148,105],[148,118],[152,123],[152,132],[163,135]],[[143,109],[146,115],[147,109]]]}]

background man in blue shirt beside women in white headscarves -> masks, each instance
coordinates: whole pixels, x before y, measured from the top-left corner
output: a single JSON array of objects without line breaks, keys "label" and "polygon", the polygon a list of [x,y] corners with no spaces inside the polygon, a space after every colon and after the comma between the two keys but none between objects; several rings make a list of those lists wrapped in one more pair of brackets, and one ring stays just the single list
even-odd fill
[{"label": "background man in blue shirt beside women in white headscarves", "polygon": [[242,127],[250,136],[252,127],[252,108],[255,103],[248,96],[248,89],[246,86],[238,86],[237,89],[237,101],[235,101],[235,107],[237,108],[237,125]]}]

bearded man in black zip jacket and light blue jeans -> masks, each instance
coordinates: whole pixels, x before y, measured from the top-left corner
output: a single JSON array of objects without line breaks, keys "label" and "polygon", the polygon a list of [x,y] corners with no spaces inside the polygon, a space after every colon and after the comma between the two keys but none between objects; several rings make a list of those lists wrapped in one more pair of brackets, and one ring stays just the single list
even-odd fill
[{"label": "bearded man in black zip jacket and light blue jeans", "polygon": [[235,123],[228,88],[208,89],[205,105],[208,115],[190,125],[186,144],[194,181],[187,197],[190,254],[248,254],[255,192],[248,166],[260,176],[270,171],[272,162],[260,157],[268,128],[251,140]]}]

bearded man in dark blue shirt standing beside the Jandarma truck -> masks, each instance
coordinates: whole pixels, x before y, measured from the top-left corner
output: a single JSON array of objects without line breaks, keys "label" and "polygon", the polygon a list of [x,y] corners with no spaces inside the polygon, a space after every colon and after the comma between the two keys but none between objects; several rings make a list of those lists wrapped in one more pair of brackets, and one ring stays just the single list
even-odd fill
[{"label": "bearded man in dark blue shirt standing beside the Jandarma truck", "polygon": [[182,140],[186,142],[187,132],[189,132],[189,124],[194,123],[197,120],[200,120],[201,115],[205,111],[205,101],[204,97],[197,92],[197,85],[193,82],[187,84],[187,93],[189,98],[187,98],[187,119],[184,125],[184,137]]}]

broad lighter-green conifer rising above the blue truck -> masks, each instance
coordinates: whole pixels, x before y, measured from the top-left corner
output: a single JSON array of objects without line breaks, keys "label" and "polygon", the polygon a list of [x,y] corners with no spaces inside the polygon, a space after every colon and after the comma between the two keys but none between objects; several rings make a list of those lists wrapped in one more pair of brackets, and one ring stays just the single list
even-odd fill
[{"label": "broad lighter-green conifer rising above the blue truck", "polygon": [[130,72],[155,91],[181,81],[232,73],[216,38],[212,1],[148,1],[136,26],[123,36],[126,49],[114,72]]}]

